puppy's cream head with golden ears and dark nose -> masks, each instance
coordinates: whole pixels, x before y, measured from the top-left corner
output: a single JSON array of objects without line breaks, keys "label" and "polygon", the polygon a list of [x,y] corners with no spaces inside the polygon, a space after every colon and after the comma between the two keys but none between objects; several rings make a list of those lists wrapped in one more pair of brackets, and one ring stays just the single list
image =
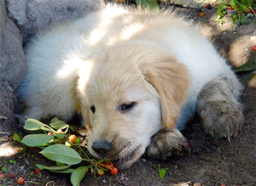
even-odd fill
[{"label": "puppy's cream head with golden ears and dark nose", "polygon": [[175,127],[188,89],[186,67],[154,44],[123,43],[91,55],[78,80],[90,153],[131,166],[156,132]]}]

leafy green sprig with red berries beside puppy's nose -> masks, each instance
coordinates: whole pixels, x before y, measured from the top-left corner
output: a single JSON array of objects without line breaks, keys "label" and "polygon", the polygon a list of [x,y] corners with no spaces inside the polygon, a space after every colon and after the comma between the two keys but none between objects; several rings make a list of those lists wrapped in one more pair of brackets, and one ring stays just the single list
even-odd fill
[{"label": "leafy green sprig with red berries beside puppy's nose", "polygon": [[[22,144],[26,144],[26,146],[43,149],[40,154],[51,161],[55,161],[55,166],[36,164],[38,169],[46,169],[51,172],[71,173],[70,179],[74,186],[79,185],[89,170],[96,174],[100,170],[104,172],[114,168],[108,166],[113,165],[111,161],[96,161],[90,159],[81,148],[81,140],[77,140],[79,143],[74,143],[74,141],[73,143],[70,142],[70,139],[73,140],[74,135],[69,132],[68,129],[70,127],[67,123],[58,120],[58,118],[52,119],[49,122],[49,126],[34,119],[27,119],[24,128],[28,131],[38,131],[41,133],[28,134],[22,138],[22,140],[15,134],[15,139]],[[60,129],[62,130],[61,133]],[[49,132],[51,132],[50,135]],[[70,147],[65,145],[66,143],[68,143]]]}]

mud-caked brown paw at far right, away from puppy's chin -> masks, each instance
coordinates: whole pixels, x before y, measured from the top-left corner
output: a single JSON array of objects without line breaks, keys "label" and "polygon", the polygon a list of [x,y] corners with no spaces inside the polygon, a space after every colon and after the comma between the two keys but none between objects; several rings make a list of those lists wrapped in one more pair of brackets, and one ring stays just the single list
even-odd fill
[{"label": "mud-caked brown paw at far right, away from puppy's chin", "polygon": [[231,101],[207,102],[200,115],[206,132],[229,141],[241,130],[244,122],[241,105]]}]

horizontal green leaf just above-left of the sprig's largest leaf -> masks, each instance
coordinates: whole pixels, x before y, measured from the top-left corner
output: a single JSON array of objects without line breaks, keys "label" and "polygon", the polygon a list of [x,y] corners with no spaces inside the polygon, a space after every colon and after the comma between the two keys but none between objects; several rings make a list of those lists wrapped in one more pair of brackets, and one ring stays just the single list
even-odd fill
[{"label": "horizontal green leaf just above-left of the sprig's largest leaf", "polygon": [[51,140],[53,140],[53,138],[54,136],[49,136],[47,134],[29,134],[29,135],[26,135],[21,140],[21,143],[26,144],[29,147],[35,147],[35,146],[47,144]]}]

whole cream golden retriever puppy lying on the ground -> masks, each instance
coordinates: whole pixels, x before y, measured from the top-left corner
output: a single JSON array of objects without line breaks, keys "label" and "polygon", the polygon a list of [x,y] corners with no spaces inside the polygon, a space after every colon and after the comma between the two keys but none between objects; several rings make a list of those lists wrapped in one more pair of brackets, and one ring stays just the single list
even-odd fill
[{"label": "whole cream golden retriever puppy lying on the ground", "polygon": [[179,132],[199,112],[206,132],[236,135],[241,84],[206,38],[172,13],[108,5],[51,26],[26,51],[19,87],[25,115],[75,112],[98,158],[132,165],[146,151],[165,158],[186,144]]}]

